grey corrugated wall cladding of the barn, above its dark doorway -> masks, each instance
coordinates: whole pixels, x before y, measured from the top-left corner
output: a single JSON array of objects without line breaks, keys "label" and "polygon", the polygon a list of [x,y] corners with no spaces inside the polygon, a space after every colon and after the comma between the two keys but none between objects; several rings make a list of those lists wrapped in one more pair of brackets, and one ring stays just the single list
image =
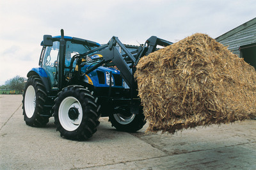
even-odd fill
[{"label": "grey corrugated wall cladding of the barn, above its dark doorway", "polygon": [[233,35],[228,36],[227,38],[221,38],[220,36],[216,38],[216,40],[223,45],[228,46],[228,50],[239,56],[239,47],[241,45],[248,45],[250,43],[256,42],[256,23],[252,26],[245,27],[241,31],[238,31]]}]

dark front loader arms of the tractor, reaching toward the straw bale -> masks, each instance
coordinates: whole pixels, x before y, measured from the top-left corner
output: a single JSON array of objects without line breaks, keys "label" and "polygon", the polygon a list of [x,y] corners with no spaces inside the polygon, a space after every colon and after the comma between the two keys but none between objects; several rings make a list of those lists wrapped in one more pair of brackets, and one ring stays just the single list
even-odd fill
[{"label": "dark front loader arms of the tractor, reaching toward the straw bale", "polygon": [[[124,55],[120,54],[118,49],[116,49],[116,44],[125,52]],[[92,54],[100,54],[102,55],[103,59],[98,63],[97,65],[93,66],[89,70],[85,72],[85,74],[88,74],[98,68],[100,65],[103,65],[104,63],[113,62],[113,64],[118,68],[120,71],[120,74],[124,81],[127,83],[129,88],[134,88],[134,77],[133,74],[135,72],[135,67],[132,69],[132,66],[136,66],[138,61],[141,57],[147,56],[151,52],[154,52],[156,50],[157,45],[161,45],[163,47],[166,47],[168,45],[171,45],[172,42],[168,42],[166,40],[163,40],[161,38],[157,38],[156,36],[151,36],[148,38],[148,40],[145,42],[145,45],[142,48],[138,48],[137,54],[134,57],[132,55],[132,52],[129,52],[125,45],[120,42],[118,37],[113,36],[108,44],[103,45],[101,47],[98,47],[97,49],[90,50],[86,52],[84,55],[92,55]],[[131,62],[127,63],[127,60],[124,59],[124,56],[128,56],[129,60]]]}]

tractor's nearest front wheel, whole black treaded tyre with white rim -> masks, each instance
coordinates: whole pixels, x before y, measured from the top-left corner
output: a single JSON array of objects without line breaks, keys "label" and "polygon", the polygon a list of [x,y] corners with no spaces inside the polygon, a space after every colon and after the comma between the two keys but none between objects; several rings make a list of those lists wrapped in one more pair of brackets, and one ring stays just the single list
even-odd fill
[{"label": "tractor's nearest front wheel, whole black treaded tyre with white rim", "polygon": [[100,123],[97,99],[88,89],[68,86],[54,101],[54,123],[61,136],[82,141],[97,131]]}]

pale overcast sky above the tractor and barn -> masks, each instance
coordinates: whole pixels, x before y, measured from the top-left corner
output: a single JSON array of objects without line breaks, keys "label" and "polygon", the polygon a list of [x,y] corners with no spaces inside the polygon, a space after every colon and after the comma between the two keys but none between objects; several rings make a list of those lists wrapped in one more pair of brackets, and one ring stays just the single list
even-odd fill
[{"label": "pale overcast sky above the tractor and barn", "polygon": [[177,42],[193,33],[212,38],[256,17],[255,0],[0,0],[0,85],[38,67],[43,35],[138,45],[152,35]]}]

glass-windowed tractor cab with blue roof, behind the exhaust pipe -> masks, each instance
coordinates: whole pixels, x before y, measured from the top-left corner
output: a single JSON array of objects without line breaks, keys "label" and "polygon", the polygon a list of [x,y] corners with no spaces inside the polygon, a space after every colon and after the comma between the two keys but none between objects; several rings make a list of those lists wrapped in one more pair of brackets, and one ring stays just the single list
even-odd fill
[{"label": "glass-windowed tractor cab with blue roof, behind the exhaust pipe", "polygon": [[[51,38],[51,37],[49,37]],[[60,36],[54,36],[51,41],[47,42],[47,38],[42,41],[43,46],[39,65],[44,68],[49,77],[51,89],[58,89],[58,72],[63,72],[65,79],[68,77],[70,68],[75,68],[76,63],[70,66],[72,57],[77,54],[84,54],[89,50],[95,49],[100,46],[99,43],[92,42],[89,40],[83,40],[81,38],[74,38],[70,36],[64,36],[65,40],[65,58],[60,57]],[[65,61],[64,65],[60,65],[60,61]],[[61,68],[62,67],[62,68]]]}]

